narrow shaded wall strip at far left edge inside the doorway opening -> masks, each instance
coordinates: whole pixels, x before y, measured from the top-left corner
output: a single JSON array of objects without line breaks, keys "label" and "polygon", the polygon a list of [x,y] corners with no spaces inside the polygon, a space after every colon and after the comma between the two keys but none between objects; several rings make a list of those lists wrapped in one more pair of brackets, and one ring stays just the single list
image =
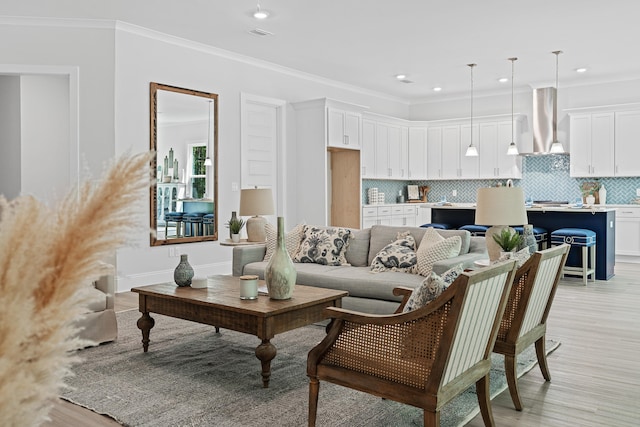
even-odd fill
[{"label": "narrow shaded wall strip at far left edge inside the doorway opening", "polygon": [[0,76],[0,194],[20,194],[20,77]]}]

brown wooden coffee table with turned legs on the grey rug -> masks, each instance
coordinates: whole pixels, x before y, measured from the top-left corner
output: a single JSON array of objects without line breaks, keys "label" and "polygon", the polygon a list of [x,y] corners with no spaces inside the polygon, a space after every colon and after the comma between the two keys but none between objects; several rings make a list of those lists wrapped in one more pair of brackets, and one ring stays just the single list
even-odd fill
[{"label": "brown wooden coffee table with turned legs on the grey rug", "polygon": [[[201,289],[180,288],[174,283],[131,289],[139,294],[142,317],[138,328],[142,330],[144,351],[149,349],[149,333],[155,324],[150,313],[212,325],[216,332],[226,328],[255,335],[262,340],[256,348],[256,357],[262,363],[262,385],[269,387],[271,360],[277,353],[271,338],[324,320],[324,308],[341,307],[342,297],[348,295],[345,291],[296,285],[289,300],[272,300],[266,295],[241,300],[239,282],[238,277],[215,276],[209,277],[209,287]],[[264,285],[264,281],[258,284]]]}]

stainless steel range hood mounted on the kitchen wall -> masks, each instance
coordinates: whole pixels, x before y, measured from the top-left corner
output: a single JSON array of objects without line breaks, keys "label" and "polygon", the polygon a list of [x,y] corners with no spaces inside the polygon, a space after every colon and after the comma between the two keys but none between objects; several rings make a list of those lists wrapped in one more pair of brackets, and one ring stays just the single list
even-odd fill
[{"label": "stainless steel range hood mounted on the kitchen wall", "polygon": [[569,154],[553,152],[553,142],[557,141],[558,107],[555,87],[543,87],[533,91],[533,150],[520,153],[521,156],[542,156],[549,154]]}]

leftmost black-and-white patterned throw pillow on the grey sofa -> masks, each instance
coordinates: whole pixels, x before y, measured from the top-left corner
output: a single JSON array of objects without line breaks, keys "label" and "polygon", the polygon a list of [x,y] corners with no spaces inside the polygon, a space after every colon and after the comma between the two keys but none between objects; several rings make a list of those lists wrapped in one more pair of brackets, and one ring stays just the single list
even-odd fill
[{"label": "leftmost black-and-white patterned throw pillow on the grey sofa", "polygon": [[350,238],[351,230],[347,228],[319,228],[305,225],[293,262],[347,265],[344,254]]}]

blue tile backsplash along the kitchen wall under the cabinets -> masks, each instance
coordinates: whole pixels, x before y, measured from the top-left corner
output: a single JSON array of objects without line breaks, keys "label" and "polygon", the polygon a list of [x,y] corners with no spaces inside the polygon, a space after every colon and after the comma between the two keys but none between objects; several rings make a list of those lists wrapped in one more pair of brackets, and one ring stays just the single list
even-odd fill
[{"label": "blue tile backsplash along the kitchen wall under the cabinets", "polygon": [[[569,176],[569,156],[531,156],[522,159],[522,179],[514,180],[514,185],[522,186],[525,197],[533,200],[554,200],[574,202],[581,196],[580,185],[597,179],[607,189],[608,204],[627,204],[636,198],[640,188],[640,177],[625,178],[571,178]],[[362,181],[362,203],[367,204],[367,190],[372,187],[385,194],[385,203],[396,203],[398,192],[407,197],[407,185],[428,185],[428,200],[437,202],[446,196],[449,202],[475,202],[480,187],[495,186],[506,180],[452,180],[452,181],[392,181],[364,179]],[[456,196],[453,196],[453,191]]]}]

